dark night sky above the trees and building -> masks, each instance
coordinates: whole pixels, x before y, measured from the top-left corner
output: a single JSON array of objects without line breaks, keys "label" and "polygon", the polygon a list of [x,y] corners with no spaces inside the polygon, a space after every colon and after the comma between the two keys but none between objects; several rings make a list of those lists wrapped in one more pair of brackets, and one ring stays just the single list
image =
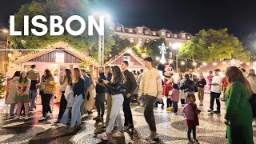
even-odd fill
[{"label": "dark night sky above the trees and building", "polygon": [[[70,0],[72,2],[74,0]],[[103,0],[102,0],[103,1]],[[0,5],[0,26],[8,26],[10,14],[31,0],[4,0]],[[256,1],[230,0],[107,0],[98,4],[114,22],[125,26],[147,26],[184,30],[191,34],[207,28],[228,28],[243,38],[256,31]]]}]

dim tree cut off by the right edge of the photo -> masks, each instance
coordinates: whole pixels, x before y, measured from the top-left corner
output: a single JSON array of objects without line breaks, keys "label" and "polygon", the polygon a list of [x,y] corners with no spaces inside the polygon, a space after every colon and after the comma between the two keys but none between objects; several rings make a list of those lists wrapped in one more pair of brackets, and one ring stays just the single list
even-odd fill
[{"label": "dim tree cut off by the right edge of the photo", "polygon": [[250,33],[242,39],[242,45],[250,51],[250,61],[256,61],[256,33]]}]

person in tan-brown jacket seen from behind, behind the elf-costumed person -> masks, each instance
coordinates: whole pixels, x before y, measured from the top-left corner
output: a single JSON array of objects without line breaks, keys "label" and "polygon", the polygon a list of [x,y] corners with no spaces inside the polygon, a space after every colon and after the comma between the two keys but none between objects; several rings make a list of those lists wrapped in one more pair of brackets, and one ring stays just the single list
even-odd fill
[{"label": "person in tan-brown jacket seen from behind, behind the elf-costumed person", "polygon": [[27,72],[26,78],[29,78],[31,80],[30,85],[30,111],[34,111],[36,98],[38,96],[38,84],[40,83],[40,74],[38,70],[36,69],[35,65],[31,66],[31,70]]}]

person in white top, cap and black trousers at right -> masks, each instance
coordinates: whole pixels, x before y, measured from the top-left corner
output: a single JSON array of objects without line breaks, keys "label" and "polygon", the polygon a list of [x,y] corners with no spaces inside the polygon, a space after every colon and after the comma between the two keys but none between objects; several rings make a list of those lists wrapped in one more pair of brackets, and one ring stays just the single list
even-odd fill
[{"label": "person in white top, cap and black trousers at right", "polygon": [[[215,76],[213,81],[210,82],[210,114],[220,114],[221,113],[221,103],[219,101],[219,97],[222,93],[222,77],[220,76],[221,70],[214,70]],[[216,99],[217,110],[214,111],[214,100]]]}]

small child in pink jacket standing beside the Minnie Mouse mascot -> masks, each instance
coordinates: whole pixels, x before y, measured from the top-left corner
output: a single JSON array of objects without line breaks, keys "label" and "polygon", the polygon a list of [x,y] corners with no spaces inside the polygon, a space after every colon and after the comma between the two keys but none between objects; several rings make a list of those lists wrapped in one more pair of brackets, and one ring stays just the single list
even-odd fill
[{"label": "small child in pink jacket standing beside the Minnie Mouse mascot", "polygon": [[[173,85],[174,89],[170,91],[169,95],[171,98],[171,102],[173,103],[173,107],[174,107],[174,114],[177,115],[177,111],[178,111],[178,101],[179,101],[179,90],[178,90],[178,85],[174,84]],[[168,96],[169,98],[169,96]],[[168,100],[167,100],[168,102]],[[168,104],[167,104],[168,106]]]}]

